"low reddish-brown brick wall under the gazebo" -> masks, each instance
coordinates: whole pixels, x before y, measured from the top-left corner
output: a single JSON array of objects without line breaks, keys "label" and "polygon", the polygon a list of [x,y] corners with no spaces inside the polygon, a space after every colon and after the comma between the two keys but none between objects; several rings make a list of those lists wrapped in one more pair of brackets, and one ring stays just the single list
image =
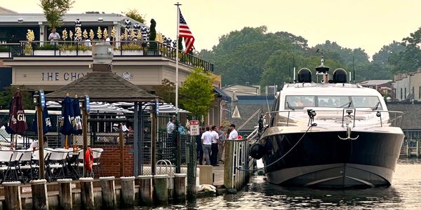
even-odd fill
[{"label": "low reddish-brown brick wall under the gazebo", "polygon": [[[102,148],[101,176],[120,177],[120,153],[119,146],[95,145],[93,148]],[[124,146],[123,153],[123,176],[133,176],[133,146]]]}]

